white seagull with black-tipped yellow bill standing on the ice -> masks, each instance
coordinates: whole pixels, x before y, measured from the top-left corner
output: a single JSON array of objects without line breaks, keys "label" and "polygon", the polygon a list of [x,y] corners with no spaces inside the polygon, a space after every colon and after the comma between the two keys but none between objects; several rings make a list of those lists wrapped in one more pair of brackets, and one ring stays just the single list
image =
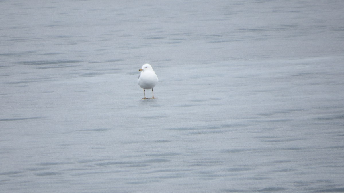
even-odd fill
[{"label": "white seagull with black-tipped yellow bill standing on the ice", "polygon": [[159,79],[155,74],[152,66],[149,64],[145,64],[139,71],[141,71],[141,73],[139,75],[139,80],[137,81],[137,83],[141,88],[143,88],[144,98],[142,99],[148,99],[146,98],[146,93],[144,93],[145,89],[152,89],[152,99],[155,99],[153,88],[155,87],[155,85],[157,85]]}]

